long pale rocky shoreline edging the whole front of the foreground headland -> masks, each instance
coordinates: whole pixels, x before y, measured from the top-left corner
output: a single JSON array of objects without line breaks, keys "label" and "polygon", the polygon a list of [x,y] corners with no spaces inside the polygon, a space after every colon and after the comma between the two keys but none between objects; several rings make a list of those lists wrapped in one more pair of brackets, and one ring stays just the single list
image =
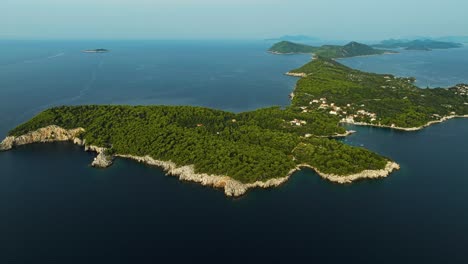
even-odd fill
[{"label": "long pale rocky shoreline edging the whole front of the foreground headland", "polygon": [[351,183],[359,179],[381,178],[388,176],[393,170],[399,169],[399,165],[394,162],[388,162],[386,167],[382,170],[365,170],[361,173],[353,175],[339,176],[334,174],[326,174],[320,172],[318,169],[308,165],[301,164],[292,169],[286,176],[280,178],[273,178],[267,181],[256,181],[253,183],[242,183],[227,175],[210,175],[206,173],[196,173],[193,165],[177,166],[172,161],[160,161],[153,159],[150,156],[133,156],[133,155],[108,155],[106,148],[86,145],[85,140],[81,140],[79,135],[84,132],[83,128],[64,129],[59,126],[51,125],[38,130],[29,132],[25,135],[14,137],[6,137],[0,143],[0,150],[10,150],[15,146],[32,144],[32,143],[47,143],[47,142],[63,142],[70,141],[79,146],[83,146],[85,151],[93,151],[98,155],[94,158],[91,165],[93,167],[106,168],[112,165],[114,157],[127,158],[145,163],[151,166],[161,167],[168,175],[177,176],[180,180],[197,182],[204,186],[211,186],[215,188],[223,188],[226,196],[241,196],[251,188],[271,188],[277,187],[286,182],[294,172],[301,170],[301,168],[308,167],[315,170],[324,179],[336,183]]}]

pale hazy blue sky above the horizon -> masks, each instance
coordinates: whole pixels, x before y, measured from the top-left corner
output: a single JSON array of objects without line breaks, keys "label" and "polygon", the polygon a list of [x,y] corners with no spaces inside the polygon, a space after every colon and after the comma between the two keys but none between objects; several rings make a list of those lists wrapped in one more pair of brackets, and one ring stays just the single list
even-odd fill
[{"label": "pale hazy blue sky above the horizon", "polygon": [[0,38],[468,35],[467,0],[0,0]]}]

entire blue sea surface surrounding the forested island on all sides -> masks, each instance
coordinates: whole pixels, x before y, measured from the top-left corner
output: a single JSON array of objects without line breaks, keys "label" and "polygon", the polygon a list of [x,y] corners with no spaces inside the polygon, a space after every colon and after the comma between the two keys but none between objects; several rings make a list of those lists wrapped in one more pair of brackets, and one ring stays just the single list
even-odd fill
[{"label": "entire blue sea surface surrounding the forested island on all sides", "polygon": [[[0,41],[0,136],[63,104],[190,104],[229,111],[286,106],[309,55],[243,41]],[[81,50],[108,48],[106,54]],[[468,83],[468,49],[342,60]],[[418,132],[353,127],[344,139],[401,170],[338,185],[312,170],[279,188],[227,198],[154,167],[104,170],[69,143],[0,153],[0,263],[468,263],[468,120]]]}]

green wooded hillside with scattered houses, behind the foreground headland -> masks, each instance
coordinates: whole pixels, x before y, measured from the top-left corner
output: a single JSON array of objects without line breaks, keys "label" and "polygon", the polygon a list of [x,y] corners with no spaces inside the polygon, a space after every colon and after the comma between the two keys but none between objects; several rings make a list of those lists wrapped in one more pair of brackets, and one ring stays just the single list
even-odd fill
[{"label": "green wooded hillside with scattered houses, behind the foreground headland", "polygon": [[312,113],[403,128],[468,114],[468,85],[421,89],[414,78],[362,72],[320,57],[291,72],[307,74],[297,83],[293,108]]}]

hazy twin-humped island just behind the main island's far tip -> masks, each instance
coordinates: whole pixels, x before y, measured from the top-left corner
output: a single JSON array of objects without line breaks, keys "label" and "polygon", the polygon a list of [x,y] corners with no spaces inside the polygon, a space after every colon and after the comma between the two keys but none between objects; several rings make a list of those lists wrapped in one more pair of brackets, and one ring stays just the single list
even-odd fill
[{"label": "hazy twin-humped island just behind the main island's far tip", "polygon": [[348,58],[355,56],[396,53],[395,51],[374,49],[371,46],[354,41],[344,46],[323,45],[320,47],[298,44],[290,41],[281,41],[274,44],[268,51],[274,54],[313,53],[323,58]]}]

